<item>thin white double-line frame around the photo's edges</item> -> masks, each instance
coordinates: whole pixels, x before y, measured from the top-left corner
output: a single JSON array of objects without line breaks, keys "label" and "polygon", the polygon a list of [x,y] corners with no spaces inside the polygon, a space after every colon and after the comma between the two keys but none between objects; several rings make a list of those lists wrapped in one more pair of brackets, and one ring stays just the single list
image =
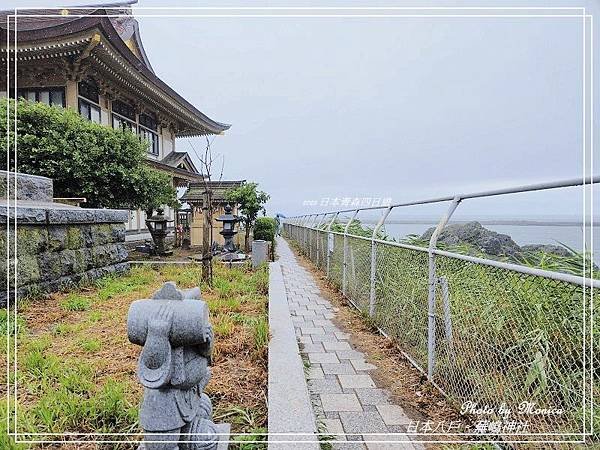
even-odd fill
[{"label": "thin white double-line frame around the photo's edges", "polygon": [[[101,5],[100,5],[101,6]],[[71,6],[71,7],[67,7],[67,9],[98,9],[98,7],[79,7],[79,6]],[[14,97],[16,98],[16,94],[17,94],[17,65],[18,65],[18,46],[17,46],[17,33],[18,33],[18,29],[17,29],[17,18],[18,17],[27,17],[27,14],[19,14],[19,10],[38,10],[38,9],[56,9],[57,13],[56,14],[43,14],[43,15],[38,15],[36,14],[36,17],[57,17],[57,16],[61,16],[61,14],[59,14],[59,11],[61,9],[63,9],[62,7],[56,7],[56,8],[42,8],[42,7],[18,7],[18,8],[14,8],[15,14],[10,14],[7,16],[7,25],[10,25],[10,21],[14,20],[14,32],[12,33],[14,35]],[[373,6],[373,7],[254,7],[254,6],[249,6],[249,7],[244,7],[244,6],[239,6],[239,7],[177,7],[177,6],[165,6],[165,7],[135,7],[135,8],[131,8],[131,9],[135,9],[135,10],[156,10],[156,11],[162,11],[162,10],[189,10],[189,11],[194,11],[194,10],[201,10],[201,11],[242,11],[241,14],[231,14],[231,13],[227,13],[227,14],[136,14],[136,17],[166,17],[166,18],[177,18],[177,17],[213,17],[213,18],[229,18],[229,17],[245,17],[245,18],[258,18],[258,17],[291,17],[291,18],[311,18],[311,17],[337,17],[337,18],[389,18],[389,17],[408,17],[408,18],[416,18],[416,17],[430,17],[430,18],[474,18],[474,17],[488,17],[488,18],[510,18],[510,17],[546,17],[546,18],[554,18],[554,17],[570,17],[570,18],[581,18],[582,19],[582,28],[583,28],[583,35],[582,35],[582,46],[583,46],[583,145],[582,145],[582,151],[583,151],[583,179],[585,180],[586,178],[586,173],[589,170],[589,173],[593,176],[593,172],[594,172],[594,166],[593,166],[593,153],[594,153],[594,143],[593,143],[593,110],[594,110],[594,104],[593,104],[593,83],[594,83],[594,79],[593,79],[593,43],[594,43],[594,36],[593,36],[593,16],[590,14],[587,14],[586,12],[586,8],[585,7],[527,7],[527,6],[522,6],[522,7],[490,7],[490,6],[485,6],[485,7],[475,7],[475,6],[466,6],[466,7],[460,7],[460,6],[456,6],[456,7],[450,7],[450,6],[443,6],[443,7],[435,7],[435,6],[430,6],[430,7],[381,7],[381,6]],[[542,10],[542,11],[580,11],[579,14],[493,14],[493,13],[486,13],[486,14],[386,14],[385,11],[451,11],[451,10],[457,10],[457,11],[538,11],[538,10]],[[245,11],[276,11],[275,13],[263,13],[263,14],[256,14],[256,13],[247,13]],[[281,12],[283,11],[302,11],[302,14],[282,14]],[[310,14],[310,13],[304,13],[304,11],[378,11],[379,13],[376,14],[330,14],[330,13],[326,13],[326,14]],[[383,11],[384,13],[382,14],[381,11]],[[103,17],[121,17],[124,16],[125,14],[105,14],[103,15]],[[73,17],[73,15],[71,15],[70,17]],[[588,22],[589,22],[589,26],[588,26]],[[589,34],[589,42],[590,45],[587,46],[586,42],[588,41],[588,32]],[[11,53],[11,45],[10,45],[10,35],[11,35],[11,30],[10,30],[10,26],[7,27],[7,69],[6,69],[6,73],[7,73],[7,93],[10,92],[10,53]],[[587,62],[589,61],[589,64],[587,64]],[[589,80],[588,80],[589,77]],[[588,82],[589,82],[589,90],[587,89],[588,87]],[[589,98],[588,98],[589,95]],[[589,104],[588,104],[589,101]],[[10,102],[7,102],[7,131],[8,131],[8,127],[10,126]],[[588,108],[589,108],[589,112],[588,112]],[[14,196],[14,224],[12,226],[13,228],[13,239],[14,239],[14,321],[12,322],[12,332],[14,332],[14,354],[11,355],[11,301],[10,301],[10,296],[8,295],[10,293],[10,285],[11,285],[11,280],[10,280],[10,262],[11,262],[11,258],[10,258],[10,239],[11,239],[11,224],[10,224],[10,217],[7,218],[7,240],[6,240],[6,250],[7,250],[7,262],[6,262],[6,268],[7,268],[7,336],[6,336],[6,340],[7,340],[7,402],[6,402],[6,407],[7,407],[7,431],[8,431],[8,435],[9,436],[13,436],[15,438],[15,442],[16,443],[30,443],[30,444],[35,444],[35,443],[133,443],[133,442],[139,442],[139,440],[135,439],[128,439],[128,440],[71,440],[71,439],[67,439],[67,440],[33,440],[33,439],[25,439],[25,440],[19,440],[18,437],[19,436],[135,436],[135,437],[141,437],[141,433],[18,433],[17,432],[17,386],[16,386],[16,380],[17,380],[17,238],[16,238],[16,231],[17,231],[17,196],[16,196],[16,175],[14,175],[16,173],[16,169],[17,169],[17,107],[15,104],[14,107],[14,171],[11,171],[11,167],[10,167],[10,156],[9,156],[9,152],[8,149],[10,148],[9,144],[10,144],[10,134],[7,132],[7,171],[8,171],[8,177],[7,177],[7,200],[8,200],[8,204],[7,204],[7,208],[10,208],[10,195],[12,193],[12,195]],[[589,123],[589,141],[587,139],[588,137],[588,123]],[[589,158],[588,158],[588,143],[589,143]],[[587,163],[590,163],[589,169],[587,167]],[[14,179],[14,188],[11,191],[11,176],[13,176]],[[590,195],[589,195],[589,220],[588,220],[588,201],[586,198],[586,188],[590,188]],[[583,223],[590,223],[590,230],[591,230],[591,234],[590,234],[590,240],[591,240],[591,251],[592,251],[592,258],[593,258],[593,228],[594,228],[594,217],[593,217],[593,184],[583,184],[582,187],[582,201],[583,201]],[[8,209],[7,209],[8,211]],[[8,215],[10,216],[10,215]],[[585,247],[585,242],[586,242],[586,233],[585,233],[585,226],[583,227],[583,243],[584,243],[584,247]],[[584,260],[585,261],[585,260]],[[132,261],[133,263],[140,263],[141,261]],[[144,262],[144,263],[153,263],[156,264],[157,262]],[[184,264],[195,264],[193,262],[184,262]],[[585,264],[584,264],[584,274],[582,275],[582,278],[586,278],[586,273],[588,273],[589,270],[589,275],[591,277],[591,269],[592,267],[590,266],[589,268],[586,268]],[[594,340],[593,340],[593,329],[590,327],[589,331],[590,331],[590,373],[589,373],[589,377],[590,377],[590,381],[589,381],[589,390],[590,390],[590,428],[589,428],[589,432],[587,432],[587,428],[586,428],[586,418],[587,418],[587,410],[586,410],[586,391],[588,386],[586,385],[586,380],[585,380],[585,375],[587,374],[586,372],[586,356],[587,356],[587,352],[586,352],[586,332],[587,332],[587,317],[586,317],[586,292],[585,292],[585,284],[583,285],[583,302],[584,302],[584,317],[583,317],[583,333],[584,333],[584,338],[583,338],[583,344],[584,344],[584,348],[583,348],[583,365],[584,365],[584,382],[583,382],[583,387],[584,387],[584,395],[583,395],[583,430],[584,433],[527,433],[527,434],[515,434],[516,436],[582,436],[583,440],[556,440],[556,441],[552,441],[552,440],[502,440],[501,442],[504,443],[584,443],[585,442],[585,437],[586,436],[590,436],[591,434],[593,434],[594,429],[593,429],[593,413],[594,413],[594,398],[593,398],[593,350],[594,350]],[[590,305],[589,305],[589,310],[590,310],[590,323],[592,323],[593,326],[593,319],[594,319],[594,296],[593,296],[593,289],[590,288]],[[10,406],[11,406],[11,402],[10,402],[10,397],[11,397],[11,383],[10,383],[10,366],[11,366],[11,357],[14,359],[14,371],[13,371],[13,376],[14,376],[14,410],[11,410]],[[14,431],[11,432],[11,419],[14,416]],[[201,434],[201,433],[200,433]],[[347,436],[347,435],[376,435],[376,436],[407,436],[407,435],[425,435],[425,436],[485,436],[487,435],[492,435],[492,433],[485,433],[485,434],[478,434],[478,433],[452,433],[452,434],[448,434],[448,433],[335,433],[335,434],[330,434],[330,433],[234,433],[232,434],[233,436],[244,436],[244,435],[250,435],[250,436],[257,436],[257,435],[263,435],[263,436],[275,436],[275,435],[282,435],[282,436],[293,436],[293,435],[298,435],[298,436]],[[493,434],[493,436],[496,436],[496,434]],[[503,434],[501,436],[510,436],[510,434]],[[152,441],[152,442],[162,442],[162,441]],[[181,443],[188,443],[190,441],[181,441]],[[229,440],[227,441],[228,443],[238,443],[239,441],[233,441],[233,440]],[[266,441],[244,441],[245,443],[265,443]],[[322,441],[319,440],[270,440],[269,443],[320,443]],[[340,440],[331,440],[328,439],[327,442],[329,443],[337,443],[337,442],[346,442],[346,441],[340,441]],[[373,440],[373,441],[369,441],[371,443],[406,443],[407,441],[399,441],[399,440],[392,440],[392,441],[386,441],[386,440]],[[467,440],[412,440],[410,442],[413,443],[437,443],[437,444],[442,444],[442,443],[448,443],[448,444],[459,444],[459,443],[492,443],[492,442],[498,442],[497,440],[491,440],[491,439],[482,439],[482,440],[472,440],[472,439],[467,439]]]}]

